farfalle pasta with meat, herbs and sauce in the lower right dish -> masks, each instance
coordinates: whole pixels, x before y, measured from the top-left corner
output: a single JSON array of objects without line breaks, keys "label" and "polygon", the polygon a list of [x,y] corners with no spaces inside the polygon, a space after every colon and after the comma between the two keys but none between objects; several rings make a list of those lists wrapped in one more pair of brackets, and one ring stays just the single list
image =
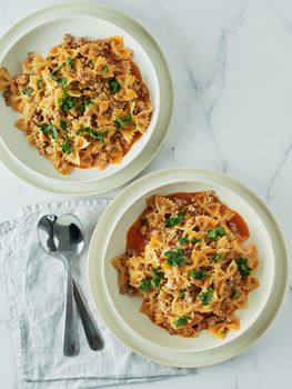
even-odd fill
[{"label": "farfalle pasta with meat, herbs and sauce in the lower right dish", "polygon": [[202,330],[224,338],[235,311],[259,286],[249,228],[213,191],[152,196],[112,259],[121,293],[142,297],[141,312],[171,335]]}]

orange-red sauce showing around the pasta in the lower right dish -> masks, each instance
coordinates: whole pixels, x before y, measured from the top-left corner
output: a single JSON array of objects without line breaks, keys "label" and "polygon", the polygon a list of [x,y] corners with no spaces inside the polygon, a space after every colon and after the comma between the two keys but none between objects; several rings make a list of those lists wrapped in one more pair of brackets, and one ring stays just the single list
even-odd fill
[{"label": "orange-red sauce showing around the pasta in the lower right dish", "polygon": [[[180,197],[190,203],[192,202],[192,199],[194,199],[194,197],[200,196],[202,196],[202,192],[177,192],[167,194],[167,197],[170,199],[174,197]],[[224,205],[222,207],[224,207],[226,211],[231,211],[233,215],[232,218],[226,222],[226,225],[229,227],[234,226],[236,232],[242,237],[242,239],[246,240],[250,237],[250,230],[242,216]],[[129,228],[127,232],[127,249],[133,250],[135,252],[142,252],[144,250],[144,247],[147,245],[147,237],[141,233],[141,228],[143,227],[143,219],[149,211],[150,209],[147,208]]]}]

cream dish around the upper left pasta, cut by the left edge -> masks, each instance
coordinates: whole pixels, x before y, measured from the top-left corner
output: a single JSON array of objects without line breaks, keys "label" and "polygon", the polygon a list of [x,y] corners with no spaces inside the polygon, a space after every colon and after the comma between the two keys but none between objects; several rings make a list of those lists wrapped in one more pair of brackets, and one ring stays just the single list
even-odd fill
[{"label": "cream dish around the upper left pasta, cut by the left edge", "polygon": [[157,153],[169,126],[172,110],[172,87],[168,66],[153,38],[125,14],[92,2],[67,3],[36,12],[13,26],[0,41],[0,63],[11,74],[21,70],[29,51],[47,56],[49,49],[62,41],[64,33],[89,39],[121,34],[133,52],[149,87],[154,111],[147,132],[127,153],[120,164],[104,170],[73,169],[60,174],[22,132],[14,128],[19,114],[0,99],[1,160],[24,180],[44,189],[69,193],[91,194],[113,189],[139,173]]}]

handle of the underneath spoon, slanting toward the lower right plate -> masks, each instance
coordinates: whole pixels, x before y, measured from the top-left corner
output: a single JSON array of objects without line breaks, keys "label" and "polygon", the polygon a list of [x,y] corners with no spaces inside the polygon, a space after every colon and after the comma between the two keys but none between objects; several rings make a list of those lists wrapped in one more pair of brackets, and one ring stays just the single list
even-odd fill
[{"label": "handle of the underneath spoon, slanting toward the lower right plate", "polygon": [[90,348],[94,351],[103,349],[103,340],[101,338],[101,335],[93,319],[91,318],[91,315],[82,299],[82,296],[74,280],[73,280],[73,292],[74,292],[74,299],[77,302],[78,311],[79,311]]}]

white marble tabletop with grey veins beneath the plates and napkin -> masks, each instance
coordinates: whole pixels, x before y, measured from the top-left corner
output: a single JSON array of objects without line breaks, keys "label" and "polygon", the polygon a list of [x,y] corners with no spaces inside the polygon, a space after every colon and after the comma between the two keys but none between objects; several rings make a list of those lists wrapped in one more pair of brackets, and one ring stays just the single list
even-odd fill
[{"label": "white marble tabletop with grey veins beneath the plates and napkin", "polygon": [[[183,164],[231,174],[269,205],[291,252],[292,2],[103,2],[127,11],[155,37],[173,77],[171,129],[158,157],[142,174]],[[53,1],[47,0],[49,3]],[[0,33],[42,4],[41,0],[0,0]],[[1,221],[17,217],[23,205],[61,198],[26,184],[1,164],[0,179]],[[17,387],[17,368],[1,290],[0,386],[12,389]],[[217,389],[290,389],[291,322],[290,278],[276,319],[245,353],[198,369],[197,375],[151,386],[208,388],[215,383]]]}]

